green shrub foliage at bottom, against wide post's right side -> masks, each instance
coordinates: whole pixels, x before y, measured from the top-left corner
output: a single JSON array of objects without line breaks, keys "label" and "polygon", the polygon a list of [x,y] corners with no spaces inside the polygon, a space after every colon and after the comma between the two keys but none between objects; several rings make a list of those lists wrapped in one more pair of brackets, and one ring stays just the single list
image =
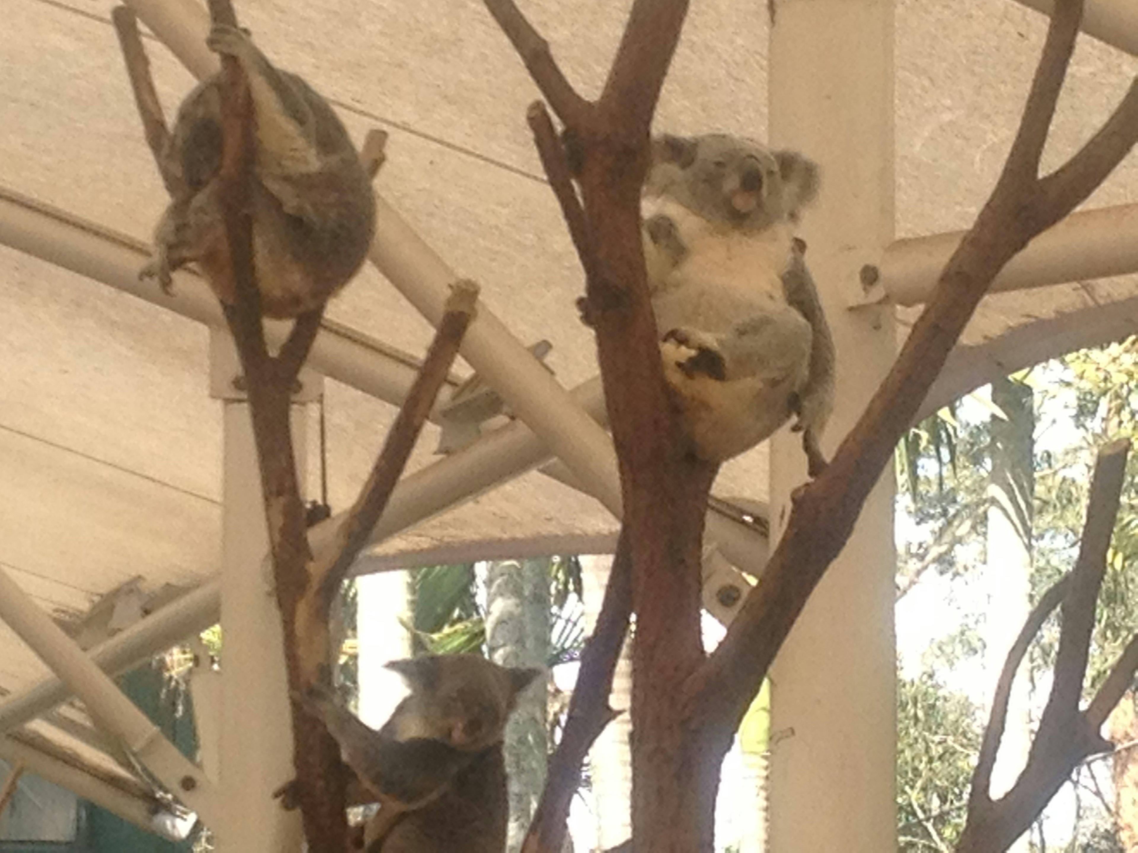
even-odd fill
[{"label": "green shrub foliage at bottom, against wide post's right side", "polygon": [[931,672],[897,686],[899,850],[950,851],[980,750],[979,709]]}]

